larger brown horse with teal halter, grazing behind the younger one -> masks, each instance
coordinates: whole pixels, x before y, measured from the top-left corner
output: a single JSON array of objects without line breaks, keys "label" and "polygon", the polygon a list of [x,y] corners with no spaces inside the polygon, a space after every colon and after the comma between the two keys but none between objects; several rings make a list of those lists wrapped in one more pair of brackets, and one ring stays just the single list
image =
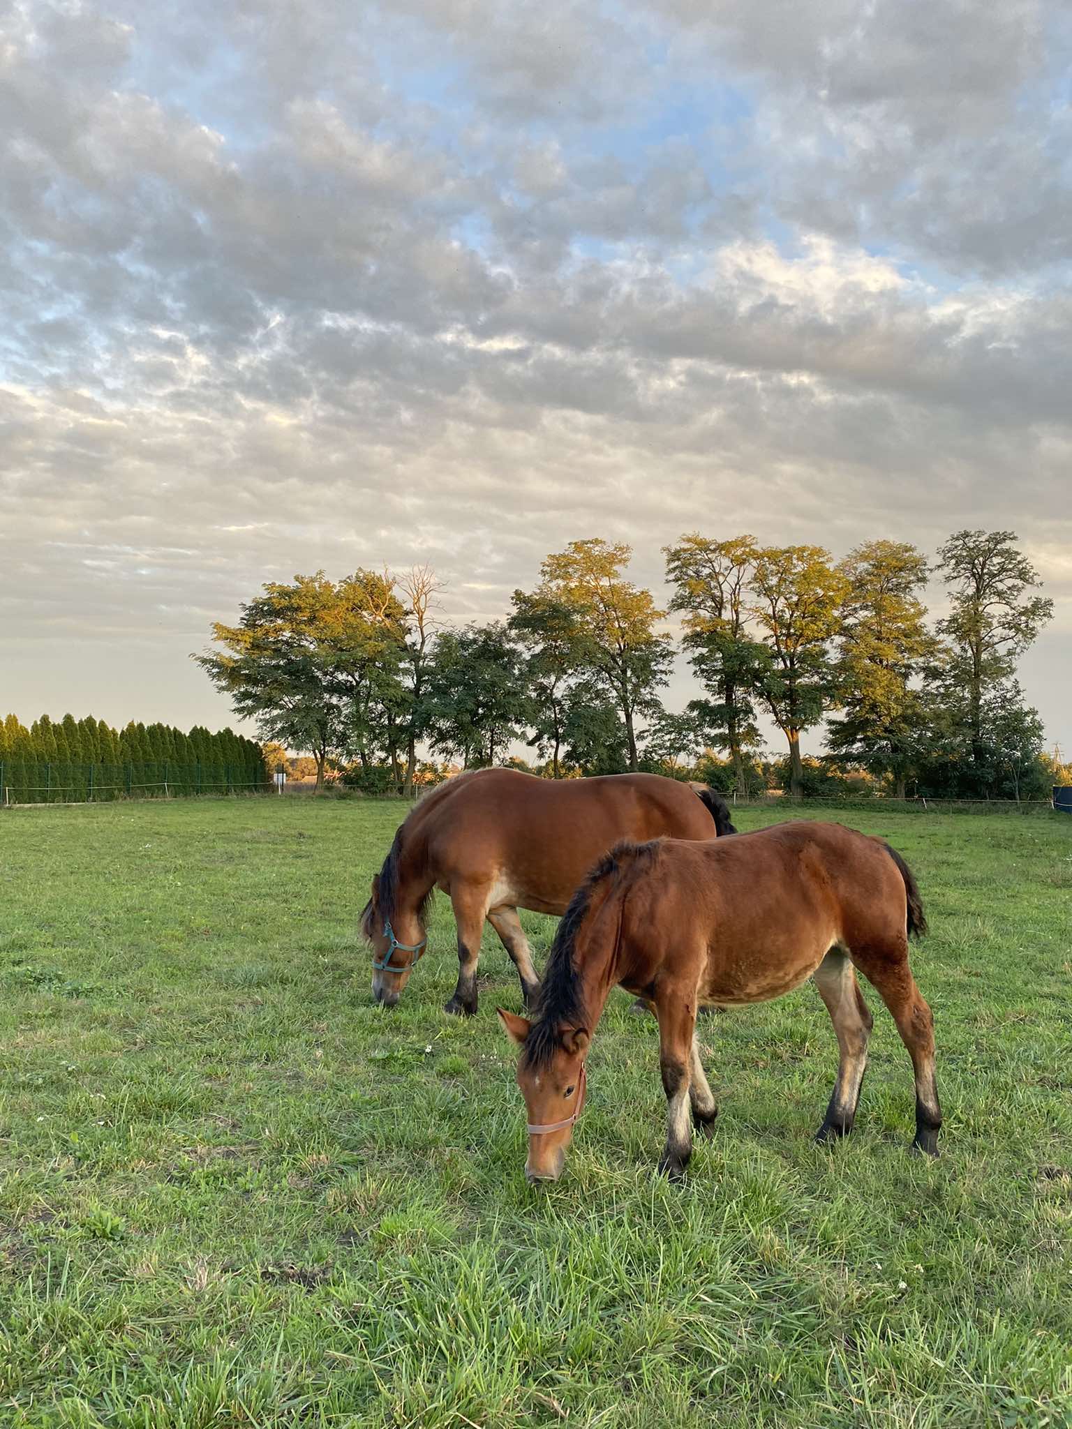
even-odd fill
[{"label": "larger brown horse with teal halter, grazing behind the younger one", "polygon": [[476,960],[485,919],[502,939],[532,1006],[539,979],[519,907],[565,913],[596,859],[620,839],[713,839],[735,833],[719,795],[699,797],[659,775],[537,779],[480,769],[440,785],[410,812],[372,880],[362,932],[373,947],[372,990],[393,1006],[425,950],[436,889],[457,923],[457,987],[447,1012],[476,1012]]}]

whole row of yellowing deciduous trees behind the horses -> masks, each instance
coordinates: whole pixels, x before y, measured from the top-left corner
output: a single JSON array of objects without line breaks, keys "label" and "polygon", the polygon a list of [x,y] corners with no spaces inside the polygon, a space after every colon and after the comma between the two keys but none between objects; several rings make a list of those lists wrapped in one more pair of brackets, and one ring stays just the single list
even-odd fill
[{"label": "whole row of yellowing deciduous trees behind the horses", "polygon": [[[896,796],[1022,797],[1048,775],[1016,664],[1052,602],[1016,540],[962,530],[933,559],[872,540],[835,560],[690,533],[663,550],[666,609],[629,580],[629,546],[575,540],[505,619],[460,627],[436,619],[426,566],[317,572],[266,584],[194,659],[266,739],[310,753],[317,782],[334,760],[410,795],[419,749],[470,769],[525,742],[552,777],[680,772],[708,750],[706,777],[748,793],[769,773],[768,716],[792,795],[858,770]],[[938,620],[932,576],[946,589]],[[672,613],[699,687],[682,713],[660,699]],[[805,762],[800,737],[823,722],[825,753]]]}]

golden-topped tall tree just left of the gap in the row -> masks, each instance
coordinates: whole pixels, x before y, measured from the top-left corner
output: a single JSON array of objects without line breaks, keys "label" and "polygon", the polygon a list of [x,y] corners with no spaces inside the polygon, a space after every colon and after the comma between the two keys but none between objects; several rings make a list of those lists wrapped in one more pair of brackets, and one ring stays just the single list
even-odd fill
[{"label": "golden-topped tall tree just left of the gap in the row", "polygon": [[666,612],[650,590],[626,580],[632,547],[605,540],[575,540],[547,556],[540,567],[540,593],[570,609],[592,640],[595,667],[615,692],[629,752],[637,769],[636,720],[660,709],[656,690],[666,684],[673,647],[656,630]]}]

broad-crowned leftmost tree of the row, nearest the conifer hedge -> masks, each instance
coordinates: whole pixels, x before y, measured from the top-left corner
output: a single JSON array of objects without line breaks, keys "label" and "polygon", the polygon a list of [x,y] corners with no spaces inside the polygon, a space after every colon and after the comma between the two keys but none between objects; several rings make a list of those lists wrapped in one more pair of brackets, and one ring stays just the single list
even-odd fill
[{"label": "broad-crowned leftmost tree of the row, nearest the conifer hedge", "polygon": [[359,570],[340,583],[323,572],[273,582],[242,607],[237,626],[213,624],[222,652],[194,656],[236,714],[263,739],[316,757],[364,747],[372,710],[397,699],[403,607],[392,582]]}]

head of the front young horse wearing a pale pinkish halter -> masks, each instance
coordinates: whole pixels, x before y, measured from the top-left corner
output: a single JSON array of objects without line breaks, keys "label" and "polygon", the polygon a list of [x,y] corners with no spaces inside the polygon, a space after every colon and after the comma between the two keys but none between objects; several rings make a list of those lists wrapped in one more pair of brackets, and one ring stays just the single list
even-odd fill
[{"label": "head of the front young horse wearing a pale pinkish halter", "polygon": [[[585,1105],[585,1057],[592,1040],[586,1027],[563,1027],[530,1045],[532,1023],[499,1007],[499,1022],[522,1049],[517,1086],[529,1113],[529,1180],[557,1180]],[[546,1029],[540,1029],[545,1033]]]}]

